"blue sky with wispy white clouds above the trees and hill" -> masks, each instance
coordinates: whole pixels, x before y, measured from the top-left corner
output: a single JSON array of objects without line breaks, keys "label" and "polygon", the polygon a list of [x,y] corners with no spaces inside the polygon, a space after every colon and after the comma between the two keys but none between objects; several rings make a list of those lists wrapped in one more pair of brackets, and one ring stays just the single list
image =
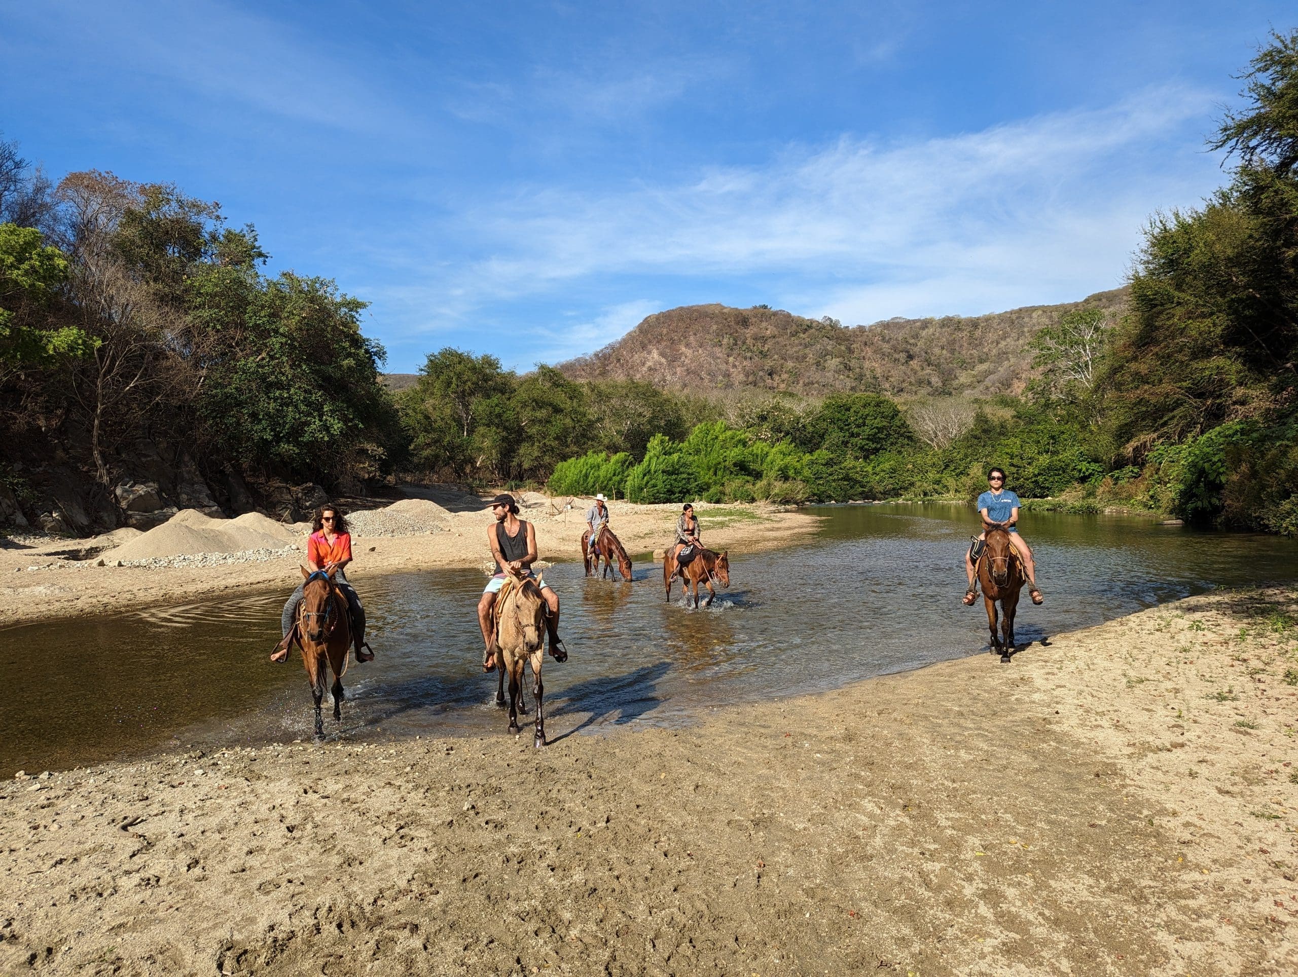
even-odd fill
[{"label": "blue sky with wispy white clouds above the trees and hill", "polygon": [[388,368],[676,305],[846,324],[1121,283],[1292,3],[0,0],[0,131],[174,182],[371,304]]}]

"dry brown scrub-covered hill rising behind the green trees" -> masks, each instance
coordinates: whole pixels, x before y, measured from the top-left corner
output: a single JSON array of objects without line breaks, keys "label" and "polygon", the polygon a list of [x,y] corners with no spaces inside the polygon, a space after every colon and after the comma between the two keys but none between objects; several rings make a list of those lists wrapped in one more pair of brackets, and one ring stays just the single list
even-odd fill
[{"label": "dry brown scrub-covered hill rising behind the green trees", "polygon": [[1032,378],[1028,341],[1037,330],[1077,308],[1120,315],[1127,292],[1116,288],[1080,302],[988,315],[894,318],[853,327],[759,306],[687,305],[649,315],[615,343],[558,368],[575,380],[645,380],[700,394],[1019,393]]}]

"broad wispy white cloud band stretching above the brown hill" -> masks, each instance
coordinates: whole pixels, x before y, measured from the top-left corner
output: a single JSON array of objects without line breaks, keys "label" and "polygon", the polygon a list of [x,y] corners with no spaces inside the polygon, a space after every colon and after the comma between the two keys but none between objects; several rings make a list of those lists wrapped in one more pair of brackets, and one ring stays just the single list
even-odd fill
[{"label": "broad wispy white cloud band stretching above the brown hill", "polygon": [[1206,189],[1210,161],[1167,160],[1189,157],[1208,105],[1160,88],[938,139],[792,145],[676,186],[520,188],[452,218],[487,254],[426,285],[454,314],[623,275],[771,276],[845,322],[1114,287],[1145,217]]}]

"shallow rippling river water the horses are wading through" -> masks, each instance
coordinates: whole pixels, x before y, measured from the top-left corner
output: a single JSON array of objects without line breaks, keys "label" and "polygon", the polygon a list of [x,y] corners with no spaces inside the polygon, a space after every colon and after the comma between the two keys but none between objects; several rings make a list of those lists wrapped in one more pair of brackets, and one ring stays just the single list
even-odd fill
[{"label": "shallow rippling river water the horses are wading through", "polygon": [[[571,658],[545,668],[552,740],[627,723],[674,724],[754,699],[844,685],[986,647],[981,601],[963,607],[972,513],[950,505],[833,506],[814,540],[731,554],[711,609],[663,601],[662,570],[639,554],[635,581],[545,571],[562,599]],[[704,531],[706,538],[706,513]],[[1020,603],[1023,645],[1164,601],[1298,579],[1298,545],[1195,532],[1128,516],[1029,514],[1023,528],[1047,602]],[[544,554],[543,554],[544,555]],[[480,671],[474,607],[483,575],[437,570],[358,576],[374,663],[348,668],[343,723],[328,738],[495,733],[496,677]],[[0,776],[180,746],[306,738],[301,663],[267,662],[284,593],[0,632],[6,680]],[[989,659],[989,667],[992,667]],[[531,703],[528,684],[526,694]]]}]

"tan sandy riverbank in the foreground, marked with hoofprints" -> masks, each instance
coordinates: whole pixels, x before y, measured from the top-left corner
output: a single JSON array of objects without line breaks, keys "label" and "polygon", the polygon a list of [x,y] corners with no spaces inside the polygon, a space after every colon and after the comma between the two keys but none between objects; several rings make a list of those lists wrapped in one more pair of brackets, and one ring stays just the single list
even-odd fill
[{"label": "tan sandy riverbank in the foreground, marked with hoofprints", "polygon": [[8,780],[0,971],[1294,973],[1295,621],[1210,594],[541,753]]}]

